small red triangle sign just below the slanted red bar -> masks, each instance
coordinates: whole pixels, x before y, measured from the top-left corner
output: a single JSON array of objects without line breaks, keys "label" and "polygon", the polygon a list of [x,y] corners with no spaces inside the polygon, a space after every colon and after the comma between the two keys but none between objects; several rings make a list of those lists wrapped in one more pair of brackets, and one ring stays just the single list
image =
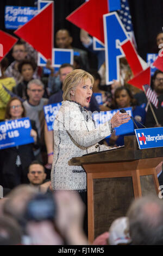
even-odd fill
[{"label": "small red triangle sign just below the slanted red bar", "polygon": [[129,84],[142,90],[143,84],[151,83],[151,68],[148,66],[147,69],[141,71],[134,78],[128,81]]}]

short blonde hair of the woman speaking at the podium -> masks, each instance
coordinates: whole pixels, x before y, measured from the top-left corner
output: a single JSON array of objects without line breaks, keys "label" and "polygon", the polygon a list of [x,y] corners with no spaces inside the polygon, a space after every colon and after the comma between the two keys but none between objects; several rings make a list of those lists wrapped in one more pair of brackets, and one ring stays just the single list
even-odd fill
[{"label": "short blonde hair of the woman speaking at the podium", "polygon": [[92,86],[94,78],[91,74],[82,69],[75,69],[71,71],[65,78],[62,90],[63,100],[71,100],[71,90],[75,90],[80,82],[85,82],[87,79],[91,80]]}]

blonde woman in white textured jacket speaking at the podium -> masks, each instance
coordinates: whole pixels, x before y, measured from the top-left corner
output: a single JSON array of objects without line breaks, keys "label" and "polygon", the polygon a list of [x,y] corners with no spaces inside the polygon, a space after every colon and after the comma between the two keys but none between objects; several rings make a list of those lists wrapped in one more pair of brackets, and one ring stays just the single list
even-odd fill
[{"label": "blonde woman in white textured jacket speaking at the podium", "polygon": [[76,69],[65,78],[63,100],[53,124],[54,154],[51,171],[53,190],[77,191],[86,202],[86,173],[81,166],[69,166],[72,157],[93,151],[108,150],[99,145],[114,127],[127,123],[127,113],[117,112],[111,120],[95,127],[88,107],[92,96],[94,79],[88,72]]}]

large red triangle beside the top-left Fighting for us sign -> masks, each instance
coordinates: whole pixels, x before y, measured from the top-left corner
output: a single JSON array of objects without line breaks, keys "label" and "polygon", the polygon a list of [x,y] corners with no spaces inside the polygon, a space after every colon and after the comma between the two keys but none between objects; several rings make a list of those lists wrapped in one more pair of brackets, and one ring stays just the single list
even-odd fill
[{"label": "large red triangle beside the top-left Fighting for us sign", "polygon": [[52,59],[53,26],[54,26],[54,3],[47,4],[39,14],[34,16],[14,33],[23,38],[36,51],[40,52],[46,59]]}]

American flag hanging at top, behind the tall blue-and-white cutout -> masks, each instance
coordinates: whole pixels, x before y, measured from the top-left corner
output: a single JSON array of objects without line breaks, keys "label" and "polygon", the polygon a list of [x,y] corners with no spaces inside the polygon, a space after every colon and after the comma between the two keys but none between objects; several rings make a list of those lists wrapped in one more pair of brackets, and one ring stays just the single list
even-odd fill
[{"label": "American flag hanging at top, behind the tall blue-and-white cutout", "polygon": [[117,11],[124,28],[127,31],[127,34],[129,35],[129,38],[133,42],[133,44],[136,47],[136,41],[135,41],[135,35],[134,35],[134,29],[133,24],[131,21],[131,15],[130,15],[130,8],[128,4],[128,0],[121,0],[121,10]]}]

